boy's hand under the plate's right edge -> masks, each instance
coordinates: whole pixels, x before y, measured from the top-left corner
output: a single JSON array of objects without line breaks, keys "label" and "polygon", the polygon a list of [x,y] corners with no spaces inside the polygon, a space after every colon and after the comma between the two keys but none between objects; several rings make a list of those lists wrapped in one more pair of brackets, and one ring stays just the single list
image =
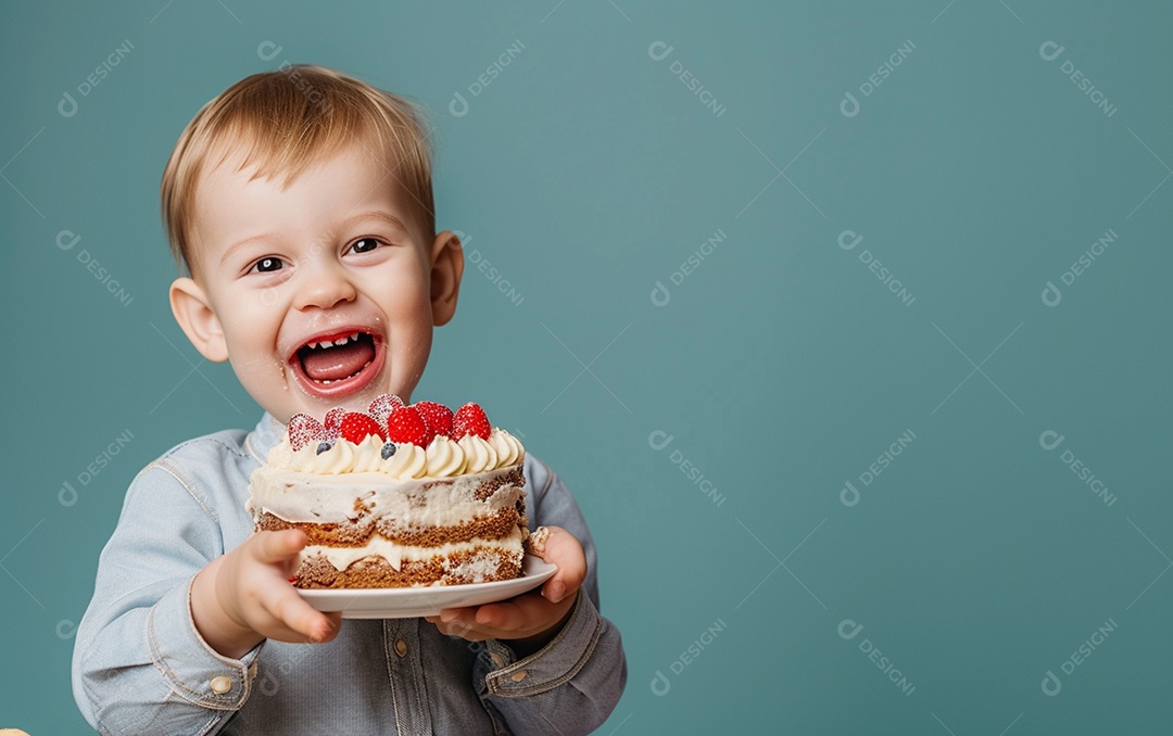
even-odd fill
[{"label": "boy's hand under the plate's right edge", "polygon": [[508,640],[520,657],[537,652],[558,633],[586,578],[586,556],[574,534],[551,526],[542,559],[558,571],[534,591],[496,604],[472,608],[446,608],[427,616],[441,633],[468,641]]}]

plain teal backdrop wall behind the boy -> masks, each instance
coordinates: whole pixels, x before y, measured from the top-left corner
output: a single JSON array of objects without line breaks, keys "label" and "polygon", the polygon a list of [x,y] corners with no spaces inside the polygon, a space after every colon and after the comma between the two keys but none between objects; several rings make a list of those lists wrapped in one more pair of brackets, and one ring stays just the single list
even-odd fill
[{"label": "plain teal backdrop wall behind the boy", "polygon": [[[73,627],[127,484],[172,444],[256,422],[230,368],[202,361],[170,315],[158,178],[203,102],[311,61],[429,108],[439,224],[514,289],[469,264],[416,395],[481,401],[575,489],[629,662],[601,732],[1167,732],[1167,4],[152,0],[4,14],[0,728],[89,732],[69,687]],[[1053,61],[1047,41],[1064,47]],[[62,231],[81,240],[62,250]],[[863,240],[845,250],[843,231]],[[1053,450],[1047,430],[1063,436]]]}]

